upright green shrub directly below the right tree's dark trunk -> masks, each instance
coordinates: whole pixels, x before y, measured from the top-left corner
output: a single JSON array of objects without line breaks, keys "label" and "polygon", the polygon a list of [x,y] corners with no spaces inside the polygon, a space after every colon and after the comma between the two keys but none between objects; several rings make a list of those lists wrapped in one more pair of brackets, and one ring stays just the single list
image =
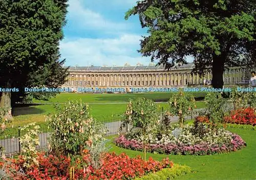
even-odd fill
[{"label": "upright green shrub directly below the right tree's dark trunk", "polygon": [[208,117],[212,129],[215,131],[218,123],[223,121],[224,100],[220,92],[208,92],[205,96],[206,116]]}]

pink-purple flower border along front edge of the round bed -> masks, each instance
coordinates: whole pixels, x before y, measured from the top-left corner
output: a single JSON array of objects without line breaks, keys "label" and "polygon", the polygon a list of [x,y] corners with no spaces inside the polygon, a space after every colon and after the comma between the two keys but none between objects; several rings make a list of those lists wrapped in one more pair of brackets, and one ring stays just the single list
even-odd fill
[{"label": "pink-purple flower border along front edge of the round bed", "polygon": [[[128,140],[123,135],[119,136],[115,139],[115,143],[117,146],[133,149],[133,150],[142,150],[143,145],[140,141],[135,139]],[[246,144],[243,139],[236,135],[232,134],[231,140],[227,143],[219,144],[211,144],[207,141],[201,142],[199,144],[183,144],[179,143],[155,143],[147,145],[147,151],[152,153],[164,153],[167,155],[212,155],[215,153],[223,153],[229,151],[236,151],[241,149]]]}]

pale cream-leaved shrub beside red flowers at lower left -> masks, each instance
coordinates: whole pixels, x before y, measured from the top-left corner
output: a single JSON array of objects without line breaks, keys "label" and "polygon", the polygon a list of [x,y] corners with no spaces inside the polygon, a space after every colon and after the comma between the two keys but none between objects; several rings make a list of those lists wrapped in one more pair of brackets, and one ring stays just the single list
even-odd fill
[{"label": "pale cream-leaved shrub beside red flowers at lower left", "polygon": [[35,125],[35,122],[29,123],[23,127],[20,127],[20,130],[25,134],[20,137],[19,142],[22,147],[22,155],[24,159],[24,167],[30,167],[32,164],[38,165],[37,150],[36,146],[40,145],[39,142],[39,131],[40,126]]}]

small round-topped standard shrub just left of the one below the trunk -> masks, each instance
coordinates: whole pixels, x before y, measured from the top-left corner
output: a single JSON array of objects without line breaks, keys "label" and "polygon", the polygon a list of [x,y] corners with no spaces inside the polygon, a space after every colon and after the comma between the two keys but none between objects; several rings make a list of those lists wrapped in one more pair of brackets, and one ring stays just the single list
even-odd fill
[{"label": "small round-topped standard shrub just left of the one below the trunk", "polygon": [[183,127],[185,115],[194,107],[196,108],[193,94],[180,91],[180,93],[173,94],[168,102],[170,114],[179,116],[180,126]]}]

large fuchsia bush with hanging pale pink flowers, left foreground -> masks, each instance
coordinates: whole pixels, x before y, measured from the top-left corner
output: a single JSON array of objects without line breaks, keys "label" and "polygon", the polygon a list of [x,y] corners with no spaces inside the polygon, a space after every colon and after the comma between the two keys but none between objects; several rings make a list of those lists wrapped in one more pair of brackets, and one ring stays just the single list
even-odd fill
[{"label": "large fuchsia bush with hanging pale pink flowers, left foreground", "polygon": [[104,140],[104,124],[89,116],[89,106],[69,100],[64,106],[55,105],[56,114],[47,116],[52,128],[50,148],[70,157],[80,156],[82,150]]}]

